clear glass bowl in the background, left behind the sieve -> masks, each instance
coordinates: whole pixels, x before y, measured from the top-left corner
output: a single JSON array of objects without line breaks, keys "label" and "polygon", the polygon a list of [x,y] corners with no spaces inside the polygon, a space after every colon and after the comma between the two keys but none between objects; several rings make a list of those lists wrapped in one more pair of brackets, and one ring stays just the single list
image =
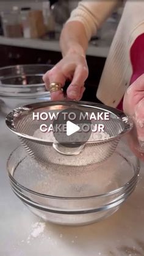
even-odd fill
[{"label": "clear glass bowl in the background, left behind the sieve", "polygon": [[29,64],[0,69],[0,108],[9,113],[15,107],[50,100],[43,75],[51,65]]}]

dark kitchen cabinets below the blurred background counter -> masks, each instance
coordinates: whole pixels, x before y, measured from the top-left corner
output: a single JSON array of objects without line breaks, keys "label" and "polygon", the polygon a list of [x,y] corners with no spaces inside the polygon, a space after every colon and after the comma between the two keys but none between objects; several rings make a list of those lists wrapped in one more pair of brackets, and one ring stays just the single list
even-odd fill
[{"label": "dark kitchen cabinets below the blurred background counter", "polygon": [[[11,66],[18,64],[56,64],[62,58],[59,51],[37,50],[25,47],[13,47],[0,45],[0,66]],[[95,95],[99,79],[103,72],[106,58],[87,56],[89,69],[88,79],[85,82],[85,92],[82,100],[96,101]]]}]

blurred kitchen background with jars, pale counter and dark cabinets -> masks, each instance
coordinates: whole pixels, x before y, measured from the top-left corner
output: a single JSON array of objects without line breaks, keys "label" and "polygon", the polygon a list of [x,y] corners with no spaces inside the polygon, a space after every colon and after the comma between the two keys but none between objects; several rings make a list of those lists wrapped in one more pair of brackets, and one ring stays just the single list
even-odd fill
[{"label": "blurred kitchen background with jars, pale counter and dark cabinets", "polygon": [[[63,24],[79,1],[0,0],[0,67],[51,64],[62,58],[59,36]],[[89,76],[84,99],[94,101],[110,44],[123,9],[112,13],[87,50]]]}]

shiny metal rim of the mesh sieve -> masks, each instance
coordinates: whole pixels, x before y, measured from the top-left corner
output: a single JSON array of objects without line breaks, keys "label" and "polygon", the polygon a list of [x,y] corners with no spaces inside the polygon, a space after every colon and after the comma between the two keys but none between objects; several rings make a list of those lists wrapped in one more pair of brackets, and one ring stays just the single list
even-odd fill
[{"label": "shiny metal rim of the mesh sieve", "polygon": [[5,123],[7,125],[7,127],[16,135],[18,135],[18,137],[23,137],[27,140],[32,140],[35,141],[37,143],[45,143],[45,145],[53,145],[53,141],[47,141],[43,138],[37,138],[34,136],[30,136],[27,134],[23,134],[20,133],[16,130],[15,127],[15,118],[18,118],[21,114],[24,115],[24,113],[31,113],[32,111],[36,110],[36,109],[40,109],[43,107],[52,107],[55,105],[61,105],[61,106],[67,106],[70,105],[71,108],[76,108],[76,107],[88,107],[88,108],[96,108],[99,110],[103,110],[103,111],[109,111],[109,113],[114,114],[115,116],[117,116],[117,118],[120,118],[121,121],[123,122],[124,128],[123,130],[120,132],[120,134],[118,134],[116,137],[110,137],[110,138],[106,138],[104,140],[93,140],[93,141],[85,141],[85,144],[92,144],[92,143],[106,143],[112,140],[115,140],[117,138],[122,137],[124,134],[130,132],[134,126],[134,123],[131,119],[131,117],[127,116],[125,113],[123,113],[120,110],[117,110],[117,108],[112,108],[109,107],[107,105],[103,105],[103,104],[97,104],[95,102],[86,102],[86,101],[76,101],[76,100],[68,100],[68,101],[45,101],[45,102],[37,102],[34,104],[29,104],[29,105],[24,105],[23,107],[19,107],[19,108],[15,108],[14,110],[12,110],[7,117],[5,118]]}]

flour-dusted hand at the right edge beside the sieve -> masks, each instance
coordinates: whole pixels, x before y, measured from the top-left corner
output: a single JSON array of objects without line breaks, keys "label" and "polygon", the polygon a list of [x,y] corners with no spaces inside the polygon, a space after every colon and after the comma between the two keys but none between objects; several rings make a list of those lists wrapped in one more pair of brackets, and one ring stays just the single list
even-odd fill
[{"label": "flour-dusted hand at the right edge beside the sieve", "polygon": [[128,135],[129,145],[134,154],[144,160],[144,74],[124,94],[123,110],[134,121],[134,129]]}]

